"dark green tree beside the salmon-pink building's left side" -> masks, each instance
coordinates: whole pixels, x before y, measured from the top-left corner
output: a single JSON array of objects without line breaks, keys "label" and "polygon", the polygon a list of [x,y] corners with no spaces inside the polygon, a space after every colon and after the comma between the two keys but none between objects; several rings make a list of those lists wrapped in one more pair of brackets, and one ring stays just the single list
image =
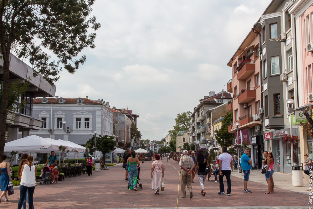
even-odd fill
[{"label": "dark green tree beside the salmon-pink building's left side", "polygon": [[222,147],[227,147],[233,144],[232,140],[234,138],[234,134],[228,132],[228,126],[230,123],[233,123],[233,113],[227,112],[223,119],[223,125],[221,129],[217,131],[216,137],[218,144],[220,144]]}]

